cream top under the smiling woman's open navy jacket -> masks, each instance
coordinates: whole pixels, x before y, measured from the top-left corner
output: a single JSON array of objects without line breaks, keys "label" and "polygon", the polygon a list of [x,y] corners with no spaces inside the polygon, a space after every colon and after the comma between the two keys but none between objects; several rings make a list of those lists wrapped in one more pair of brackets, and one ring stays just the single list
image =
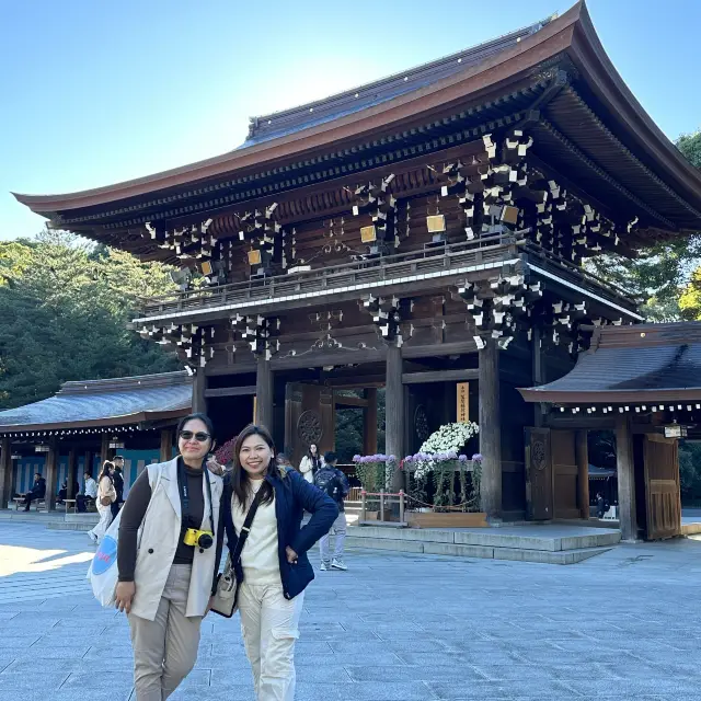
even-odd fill
[{"label": "cream top under the smiling woman's open navy jacket", "polygon": [[[263,480],[251,480],[251,501],[263,486]],[[246,508],[242,509],[237,495],[231,496],[231,514],[237,533],[241,532]],[[249,584],[280,584],[280,563],[277,554],[277,518],[275,495],[268,504],[258,505],[251,524],[249,538],[241,552],[243,576]]]}]

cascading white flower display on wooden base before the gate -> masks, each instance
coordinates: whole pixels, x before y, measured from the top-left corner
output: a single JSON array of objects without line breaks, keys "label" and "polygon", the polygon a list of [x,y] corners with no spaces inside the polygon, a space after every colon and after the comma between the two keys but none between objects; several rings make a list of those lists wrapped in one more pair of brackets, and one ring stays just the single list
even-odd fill
[{"label": "cascading white flower display on wooden base before the gate", "polygon": [[459,452],[478,432],[472,422],[446,424],[424,441],[417,453],[404,458],[404,469],[413,473],[414,504],[430,509],[410,513],[407,520],[412,526],[486,526],[485,514],[478,510],[482,456],[475,453],[469,460]]}]

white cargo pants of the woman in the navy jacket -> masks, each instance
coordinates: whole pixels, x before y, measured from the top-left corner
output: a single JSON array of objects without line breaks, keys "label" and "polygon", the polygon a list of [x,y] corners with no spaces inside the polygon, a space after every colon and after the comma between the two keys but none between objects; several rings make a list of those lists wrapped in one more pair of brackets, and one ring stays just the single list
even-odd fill
[{"label": "white cargo pants of the woman in the navy jacket", "polygon": [[295,643],[303,604],[303,591],[288,600],[280,584],[241,584],[241,630],[257,701],[295,699]]}]

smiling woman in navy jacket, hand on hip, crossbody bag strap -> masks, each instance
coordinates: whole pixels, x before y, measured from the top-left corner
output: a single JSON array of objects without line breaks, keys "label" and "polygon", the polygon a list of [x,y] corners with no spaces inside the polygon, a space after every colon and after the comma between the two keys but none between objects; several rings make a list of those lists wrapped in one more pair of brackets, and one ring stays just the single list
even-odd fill
[{"label": "smiling woman in navy jacket, hand on hip, crossbody bag strap", "polygon": [[[292,701],[295,642],[304,589],[314,578],[307,552],[329,531],[338,509],[296,470],[277,466],[271,434],[253,425],[237,438],[233,470],[225,478],[221,498],[232,556],[249,508],[257,503],[241,560],[233,563],[255,698]],[[312,516],[302,528],[304,510]]]}]

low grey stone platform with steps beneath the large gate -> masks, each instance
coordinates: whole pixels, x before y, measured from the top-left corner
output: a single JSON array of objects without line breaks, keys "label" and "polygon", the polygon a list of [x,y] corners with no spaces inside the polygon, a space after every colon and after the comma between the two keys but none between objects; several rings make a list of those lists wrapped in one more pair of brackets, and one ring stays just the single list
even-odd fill
[{"label": "low grey stone platform with steps beneath the large gate", "polygon": [[348,528],[347,547],[397,552],[571,565],[614,548],[621,532],[586,526],[526,525],[498,528]]}]

